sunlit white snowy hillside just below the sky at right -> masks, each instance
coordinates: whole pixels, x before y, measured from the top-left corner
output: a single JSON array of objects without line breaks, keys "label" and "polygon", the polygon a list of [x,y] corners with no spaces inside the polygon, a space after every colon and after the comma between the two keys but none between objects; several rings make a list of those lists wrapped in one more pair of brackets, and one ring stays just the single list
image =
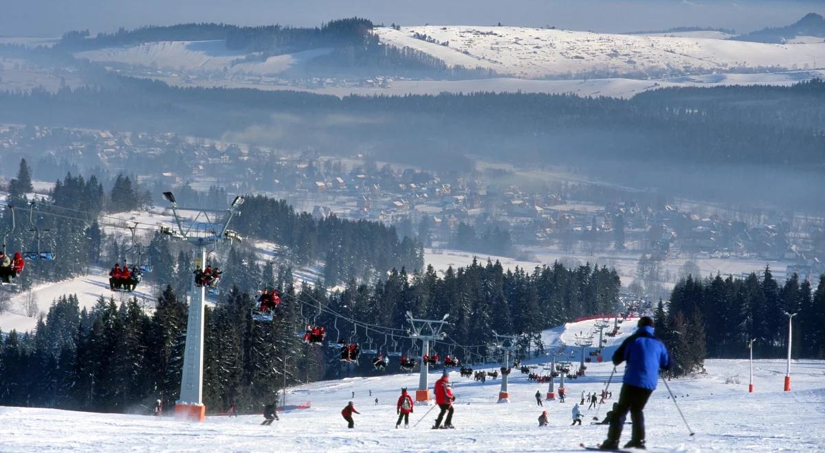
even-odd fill
[{"label": "sunlit white snowy hillside just below the sky at right", "polygon": [[[610,35],[511,26],[376,28],[380,40],[440,58],[451,66],[493,69],[524,78],[574,78],[610,71],[726,72],[731,68],[816,68],[825,44],[762,44],[681,36]],[[427,35],[436,42],[417,39]],[[444,45],[446,44],[446,45]]]}]

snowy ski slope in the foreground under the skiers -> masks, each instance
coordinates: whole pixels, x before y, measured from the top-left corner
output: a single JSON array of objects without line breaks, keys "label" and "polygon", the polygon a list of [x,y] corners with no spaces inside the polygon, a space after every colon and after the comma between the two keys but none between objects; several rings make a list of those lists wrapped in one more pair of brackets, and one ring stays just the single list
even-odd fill
[{"label": "snowy ski slope in the foreground under the skiers", "polygon": [[[568,325],[567,330],[578,325]],[[582,326],[583,327],[583,326]],[[557,331],[559,329],[556,329]],[[567,334],[566,332],[563,334]],[[549,362],[542,357],[539,364]],[[489,369],[497,367],[488,365]],[[617,371],[619,374],[623,367]],[[759,360],[755,393],[747,393],[746,360],[709,360],[707,374],[670,381],[687,422],[688,436],[672,399],[661,383],[645,410],[651,451],[822,451],[825,449],[825,362],[798,361],[792,367],[793,391],[782,391],[785,362]],[[453,372],[457,396],[455,430],[431,431],[436,410],[418,405],[409,430],[394,429],[395,401],[401,387],[417,385],[417,375],[357,377],[300,385],[287,391],[286,404],[310,403],[309,409],[281,413],[272,427],[260,415],[207,417],[205,423],[142,415],[79,413],[54,409],[0,408],[2,451],[581,451],[606,437],[606,427],[588,424],[607,408],[584,409],[583,426],[570,426],[570,411],[582,391],[600,391],[609,364],[592,363],[588,376],[566,381],[564,404],[536,407],[536,390],[547,385],[511,375],[509,404],[497,404],[500,381],[481,384]],[[431,373],[434,381],[438,371]],[[557,382],[558,386],[559,383]],[[620,385],[609,390],[618,398]],[[370,391],[372,395],[370,395]],[[355,396],[352,396],[355,392]],[[375,399],[378,404],[375,404]],[[354,401],[361,415],[349,430],[340,411]],[[264,403],[264,401],[262,401]],[[549,427],[537,427],[542,410]],[[420,421],[420,423],[419,423]],[[417,424],[416,426],[416,423]],[[629,439],[629,427],[623,440]]]}]

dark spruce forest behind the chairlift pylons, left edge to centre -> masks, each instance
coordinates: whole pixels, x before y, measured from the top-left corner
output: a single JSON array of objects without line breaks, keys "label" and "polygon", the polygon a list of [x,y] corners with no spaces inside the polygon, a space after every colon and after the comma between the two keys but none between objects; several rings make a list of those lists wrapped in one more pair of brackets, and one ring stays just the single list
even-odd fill
[{"label": "dark spruce forest behind the chairlift pylons, left edge to centre", "polygon": [[[274,275],[274,273],[273,273]],[[232,287],[205,311],[204,402],[210,413],[237,404],[243,413],[258,412],[277,400],[283,385],[324,377],[375,373],[371,358],[359,365],[338,360],[337,347],[310,346],[300,340],[307,324],[325,325],[328,340],[337,335],[365,347],[372,339],[381,348],[384,335],[335,322],[318,304],[361,323],[397,329],[405,314],[440,319],[450,314],[446,332],[459,344],[474,345],[499,333],[538,332],[549,325],[615,308],[619,278],[615,271],[565,269],[561,264],[505,271],[501,264],[473,263],[448,269],[443,277],[433,269],[409,275],[393,270],[375,284],[351,281],[329,292],[322,283],[294,286],[291,269],[282,267],[269,282],[281,290],[281,304],[272,322],[252,320],[253,290]],[[170,408],[179,395],[186,301],[167,286],[151,315],[130,299],[118,305],[101,297],[90,310],[80,309],[73,295],[54,301],[34,332],[4,334],[0,351],[0,404],[146,413],[155,399]],[[335,326],[333,328],[333,326]],[[403,331],[396,332],[403,334]],[[393,338],[384,351],[410,348]],[[540,344],[538,342],[537,344]],[[436,351],[446,354],[444,344]],[[439,351],[440,349],[440,351]],[[454,349],[454,356],[493,355],[474,348]],[[389,372],[398,371],[398,362]]]}]

